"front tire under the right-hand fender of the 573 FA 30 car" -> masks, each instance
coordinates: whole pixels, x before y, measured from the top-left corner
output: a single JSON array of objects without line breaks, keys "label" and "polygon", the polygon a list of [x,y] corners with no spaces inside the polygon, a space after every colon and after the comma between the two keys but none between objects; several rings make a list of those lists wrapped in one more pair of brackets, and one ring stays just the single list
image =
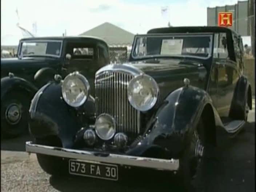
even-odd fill
[{"label": "front tire under the right-hand fender of the 573 FA 30 car", "polygon": [[[182,191],[204,191],[204,183],[202,178],[200,178],[200,172],[202,169],[202,159],[206,153],[205,143],[204,124],[200,119],[197,129],[193,133],[191,143],[185,149],[180,159],[178,177],[179,187]],[[202,149],[201,147],[203,147],[202,151],[200,150]],[[199,151],[198,154],[195,153],[196,148]]]}]

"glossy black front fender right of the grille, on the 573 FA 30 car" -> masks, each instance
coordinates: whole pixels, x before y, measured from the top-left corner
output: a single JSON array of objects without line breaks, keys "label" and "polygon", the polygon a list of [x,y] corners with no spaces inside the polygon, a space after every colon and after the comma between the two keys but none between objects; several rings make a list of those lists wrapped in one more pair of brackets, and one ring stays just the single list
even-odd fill
[{"label": "glossy black front fender right of the grille, on the 573 FA 30 car", "polygon": [[189,86],[173,91],[153,116],[143,139],[127,153],[143,156],[151,147],[158,146],[168,154],[167,158],[179,157],[191,141],[207,104],[212,107],[212,100],[202,89]]}]

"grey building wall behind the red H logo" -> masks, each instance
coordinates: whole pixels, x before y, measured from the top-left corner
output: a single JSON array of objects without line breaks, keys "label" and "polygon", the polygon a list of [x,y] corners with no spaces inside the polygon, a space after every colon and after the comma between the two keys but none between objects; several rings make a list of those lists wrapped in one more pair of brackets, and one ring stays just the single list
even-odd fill
[{"label": "grey building wall behind the red H logo", "polygon": [[241,36],[248,36],[249,22],[248,22],[248,1],[238,1],[235,5],[225,5],[222,7],[207,8],[207,25],[218,25],[219,12],[233,13],[233,26],[231,27],[237,31]]}]

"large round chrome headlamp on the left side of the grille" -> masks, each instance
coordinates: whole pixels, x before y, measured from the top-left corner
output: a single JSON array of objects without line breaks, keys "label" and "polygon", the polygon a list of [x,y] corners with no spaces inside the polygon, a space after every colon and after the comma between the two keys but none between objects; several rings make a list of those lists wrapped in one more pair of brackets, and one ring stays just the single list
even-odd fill
[{"label": "large round chrome headlamp on the left side of the grille", "polygon": [[61,87],[63,99],[72,107],[84,104],[88,98],[89,89],[88,80],[79,72],[67,75]]}]

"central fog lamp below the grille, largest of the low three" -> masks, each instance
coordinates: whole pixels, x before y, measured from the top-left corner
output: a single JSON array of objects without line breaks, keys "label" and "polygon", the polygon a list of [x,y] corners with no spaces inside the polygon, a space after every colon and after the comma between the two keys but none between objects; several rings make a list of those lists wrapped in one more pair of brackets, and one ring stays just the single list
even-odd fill
[{"label": "central fog lamp below the grille, largest of the low three", "polygon": [[101,114],[95,121],[96,134],[103,140],[111,139],[116,133],[116,123],[112,116]]}]

